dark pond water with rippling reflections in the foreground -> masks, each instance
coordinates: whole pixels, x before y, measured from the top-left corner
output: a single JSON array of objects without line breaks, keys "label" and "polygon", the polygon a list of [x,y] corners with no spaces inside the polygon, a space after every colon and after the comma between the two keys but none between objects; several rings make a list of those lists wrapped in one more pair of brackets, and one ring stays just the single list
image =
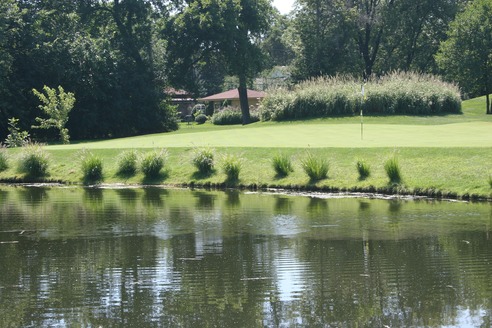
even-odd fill
[{"label": "dark pond water with rippling reflections in the foreground", "polygon": [[0,327],[490,327],[492,204],[0,186]]}]

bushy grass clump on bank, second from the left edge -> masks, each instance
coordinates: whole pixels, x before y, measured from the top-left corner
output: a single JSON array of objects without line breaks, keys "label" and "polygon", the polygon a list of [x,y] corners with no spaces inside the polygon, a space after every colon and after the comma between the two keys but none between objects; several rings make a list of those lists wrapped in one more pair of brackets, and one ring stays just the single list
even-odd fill
[{"label": "bushy grass clump on bank, second from the left edge", "polygon": [[37,143],[29,143],[22,147],[18,170],[28,177],[38,178],[48,174],[48,153]]}]

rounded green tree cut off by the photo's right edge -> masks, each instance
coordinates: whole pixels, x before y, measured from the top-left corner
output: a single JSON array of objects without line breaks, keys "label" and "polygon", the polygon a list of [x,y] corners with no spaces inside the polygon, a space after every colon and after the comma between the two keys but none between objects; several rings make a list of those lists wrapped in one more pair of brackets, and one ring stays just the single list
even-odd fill
[{"label": "rounded green tree cut off by the photo's right edge", "polygon": [[450,24],[436,60],[445,74],[471,96],[486,96],[492,114],[492,0],[475,0]]}]

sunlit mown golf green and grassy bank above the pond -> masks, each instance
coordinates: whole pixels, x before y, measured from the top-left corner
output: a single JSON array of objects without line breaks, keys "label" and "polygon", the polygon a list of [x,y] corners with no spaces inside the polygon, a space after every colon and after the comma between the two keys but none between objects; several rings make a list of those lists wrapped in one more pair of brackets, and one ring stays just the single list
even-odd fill
[{"label": "sunlit mown golf green and grassy bank above the pond", "polygon": [[[235,154],[243,159],[239,181],[230,185],[253,188],[279,187],[334,191],[408,193],[430,196],[492,198],[492,117],[481,114],[483,99],[467,101],[463,114],[429,117],[366,117],[361,138],[360,118],[334,118],[289,123],[255,123],[249,126],[215,127],[183,125],[174,133],[46,146],[49,175],[44,180],[81,183],[81,150],[101,158],[104,183],[226,185],[220,158]],[[197,174],[191,157],[194,148],[215,149],[219,162],[209,175]],[[145,154],[154,149],[169,152],[162,173],[152,179],[141,172],[117,174],[117,156],[127,149]],[[17,172],[21,149],[9,149],[7,170],[0,179],[25,181]],[[292,160],[294,171],[277,177],[271,159],[281,152]],[[326,159],[328,177],[311,181],[301,168],[307,152]],[[396,156],[402,173],[400,184],[390,184],[384,164]],[[357,160],[371,170],[359,180]]]}]

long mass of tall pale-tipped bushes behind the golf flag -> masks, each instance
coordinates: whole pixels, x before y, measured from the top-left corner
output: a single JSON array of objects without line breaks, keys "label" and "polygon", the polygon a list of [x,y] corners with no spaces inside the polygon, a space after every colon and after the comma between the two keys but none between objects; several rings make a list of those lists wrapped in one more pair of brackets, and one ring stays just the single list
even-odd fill
[{"label": "long mass of tall pale-tipped bushes behind the golf flag", "polygon": [[460,91],[438,77],[395,72],[364,85],[346,76],[300,83],[292,92],[272,90],[260,106],[262,121],[358,115],[430,115],[461,112]]}]

